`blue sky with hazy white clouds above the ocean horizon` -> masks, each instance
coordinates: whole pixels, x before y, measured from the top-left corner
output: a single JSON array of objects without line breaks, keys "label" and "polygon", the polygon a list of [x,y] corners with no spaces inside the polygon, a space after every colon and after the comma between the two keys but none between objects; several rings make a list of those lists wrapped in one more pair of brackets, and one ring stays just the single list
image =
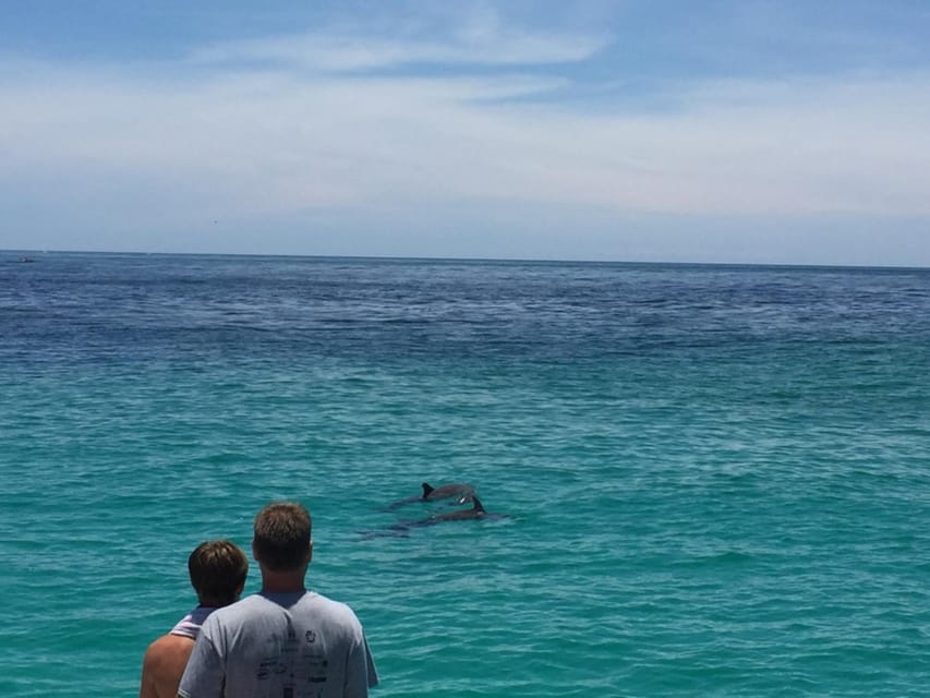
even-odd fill
[{"label": "blue sky with hazy white clouds above the ocean horizon", "polygon": [[0,249],[930,266],[925,0],[0,16]]}]

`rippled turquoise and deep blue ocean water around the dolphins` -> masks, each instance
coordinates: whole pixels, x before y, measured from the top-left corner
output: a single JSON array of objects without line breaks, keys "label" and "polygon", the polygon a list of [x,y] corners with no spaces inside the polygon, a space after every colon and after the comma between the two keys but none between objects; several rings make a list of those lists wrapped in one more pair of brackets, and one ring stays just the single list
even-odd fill
[{"label": "rippled turquoise and deep blue ocean water around the dolphins", "polygon": [[22,255],[0,696],[134,696],[277,498],[383,698],[930,695],[930,270]]}]

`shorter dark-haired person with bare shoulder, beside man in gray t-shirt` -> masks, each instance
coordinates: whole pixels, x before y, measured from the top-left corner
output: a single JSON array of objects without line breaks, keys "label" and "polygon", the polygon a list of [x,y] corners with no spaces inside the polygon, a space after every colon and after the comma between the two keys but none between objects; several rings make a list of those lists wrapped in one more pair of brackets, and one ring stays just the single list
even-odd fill
[{"label": "shorter dark-haired person with bare shoulder, beside man in gray t-shirt", "polygon": [[203,622],[215,610],[239,600],[249,561],[245,553],[229,541],[206,541],[188,557],[188,571],[200,605],[168,635],[148,646],[142,661],[140,698],[174,698],[178,695],[181,674]]}]

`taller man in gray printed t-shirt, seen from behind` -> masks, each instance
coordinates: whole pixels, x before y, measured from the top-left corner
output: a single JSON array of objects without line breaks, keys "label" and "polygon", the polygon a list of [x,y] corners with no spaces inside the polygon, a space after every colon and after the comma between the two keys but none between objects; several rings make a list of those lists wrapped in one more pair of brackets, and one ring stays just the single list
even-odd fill
[{"label": "taller man in gray printed t-shirt, seen from behind", "polygon": [[274,503],[255,517],[262,591],[213,613],[181,678],[182,698],[364,698],[378,683],[352,610],[304,586],[307,510]]}]

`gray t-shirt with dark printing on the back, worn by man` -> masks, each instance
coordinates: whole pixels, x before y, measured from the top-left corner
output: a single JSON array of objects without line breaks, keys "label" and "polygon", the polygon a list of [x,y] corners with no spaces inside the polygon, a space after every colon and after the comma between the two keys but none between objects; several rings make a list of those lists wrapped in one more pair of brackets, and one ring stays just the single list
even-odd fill
[{"label": "gray t-shirt with dark printing on the back, worn by man", "polygon": [[362,625],[312,591],[257,593],[207,617],[184,698],[364,698],[378,683]]}]

